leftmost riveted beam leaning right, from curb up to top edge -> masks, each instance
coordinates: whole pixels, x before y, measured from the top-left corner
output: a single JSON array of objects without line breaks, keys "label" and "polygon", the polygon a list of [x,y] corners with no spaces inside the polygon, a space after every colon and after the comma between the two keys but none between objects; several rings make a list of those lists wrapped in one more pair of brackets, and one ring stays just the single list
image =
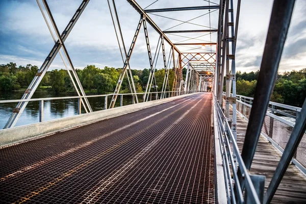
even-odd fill
[{"label": "leftmost riveted beam leaning right, from curb up to top edge", "polygon": [[[72,28],[74,27],[75,23],[80,18],[81,14],[83,13],[84,9],[86,8],[87,4],[90,0],[84,0],[82,1],[81,5],[77,9],[77,11],[72,16],[71,20],[69,21],[68,25],[66,26],[65,30],[63,31],[61,35],[61,39],[64,42],[68,35],[70,34]],[[55,45],[53,46],[52,50],[50,51],[49,55],[46,57],[45,61],[39,68],[37,74],[35,75],[34,79],[32,80],[31,84],[29,85],[28,89],[24,92],[21,99],[30,99],[35,90],[37,89],[38,85],[40,84],[42,78],[44,77],[44,74],[47,72],[49,66],[52,64],[54,58],[56,57],[57,53],[59,52],[61,48],[61,43],[58,40]],[[9,118],[8,122],[4,126],[4,129],[15,126],[18,118],[20,117],[21,113],[25,109],[25,107],[28,105],[29,101],[23,101],[19,102],[16,108],[13,110],[13,113],[11,117]]]}]

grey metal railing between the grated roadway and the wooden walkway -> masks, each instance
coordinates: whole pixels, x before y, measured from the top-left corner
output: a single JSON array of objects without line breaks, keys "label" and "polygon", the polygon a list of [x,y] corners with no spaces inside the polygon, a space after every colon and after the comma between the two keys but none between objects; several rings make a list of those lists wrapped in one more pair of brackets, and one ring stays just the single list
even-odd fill
[{"label": "grey metal railing between the grated roadway and the wooden walkway", "polygon": [[[214,95],[214,113],[217,117],[219,144],[224,171],[226,197],[228,203],[262,203],[265,176],[251,175],[245,167],[237,142],[226,117]],[[216,130],[215,130],[216,131]],[[233,151],[232,151],[233,148]],[[239,168],[234,161],[238,162]],[[238,171],[243,175],[242,183]]]}]

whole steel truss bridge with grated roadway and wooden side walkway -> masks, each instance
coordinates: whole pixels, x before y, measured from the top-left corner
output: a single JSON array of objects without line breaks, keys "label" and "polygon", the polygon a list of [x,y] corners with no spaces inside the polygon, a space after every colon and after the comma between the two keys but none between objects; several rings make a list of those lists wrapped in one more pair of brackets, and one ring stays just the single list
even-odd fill
[{"label": "whole steel truss bridge with grated roadway and wooden side walkway", "polygon": [[[113,94],[94,96],[85,94],[65,46],[90,4],[80,2],[61,34],[47,1],[37,0],[55,44],[22,98],[0,101],[18,103],[0,131],[3,203],[306,202],[306,102],[297,108],[269,101],[295,1],[273,3],[254,98],[236,94],[240,0],[201,1],[193,7],[177,7],[173,2],[173,7],[160,9],[143,9],[127,0],[140,16],[132,42],[123,39],[119,0],[108,0],[122,74]],[[165,17],[160,13],[180,16],[185,11],[201,12],[209,25],[198,30],[193,19],[181,20],[189,23],[189,30],[174,26],[163,31],[161,22],[152,20]],[[155,50],[150,29],[159,35]],[[134,48],[141,46],[137,44],[141,31],[150,68],[144,93],[136,91],[130,64]],[[185,40],[173,42],[173,36]],[[57,55],[78,96],[33,99]],[[165,70],[161,91],[155,77],[158,60]],[[124,78],[131,93],[120,93]],[[122,106],[125,95],[132,95],[133,105]],[[104,98],[105,110],[93,112],[91,97]],[[67,98],[78,100],[79,115],[43,121],[44,101]],[[40,122],[15,127],[31,101],[40,103]]]}]

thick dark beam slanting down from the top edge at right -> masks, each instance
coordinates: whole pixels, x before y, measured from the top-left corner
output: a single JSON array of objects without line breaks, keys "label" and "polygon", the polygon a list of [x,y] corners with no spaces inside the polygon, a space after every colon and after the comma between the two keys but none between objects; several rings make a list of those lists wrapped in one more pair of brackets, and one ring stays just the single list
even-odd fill
[{"label": "thick dark beam slanting down from the top edge at right", "polygon": [[[268,109],[269,100],[273,92],[294,3],[295,1],[292,0],[274,0],[273,3],[258,82],[241,152],[242,159],[247,169],[251,167]],[[239,175],[239,179],[243,181],[243,176],[241,174]]]}]

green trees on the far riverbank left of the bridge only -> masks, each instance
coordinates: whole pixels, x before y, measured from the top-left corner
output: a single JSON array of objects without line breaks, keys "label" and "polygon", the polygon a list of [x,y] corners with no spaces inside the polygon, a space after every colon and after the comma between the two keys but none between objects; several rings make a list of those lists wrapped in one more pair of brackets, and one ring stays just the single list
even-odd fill
[{"label": "green trees on the far riverbank left of the bridge only", "polygon": [[[0,65],[0,90],[11,91],[28,88],[38,71],[37,66],[28,64],[27,66],[18,66],[16,63],[8,63]],[[122,74],[122,68],[104,67],[99,68],[95,65],[87,65],[84,69],[76,69],[78,78],[86,90],[86,92],[93,93],[110,93],[116,88],[119,75]],[[136,70],[132,69],[133,81],[137,92],[142,92],[145,89],[148,78],[149,69]],[[70,74],[73,77],[72,71]],[[165,70],[155,70],[155,80],[158,91],[162,90],[164,82]],[[183,70],[183,77],[185,79],[186,69]],[[73,77],[74,81],[75,78]],[[174,80],[173,70],[169,71],[169,87],[172,90]],[[131,85],[132,86],[132,85]],[[49,91],[58,93],[73,92],[74,87],[69,77],[68,71],[65,69],[55,69],[47,71],[39,84],[38,89],[47,89]],[[122,81],[121,92],[131,92],[129,81],[126,73]]]}]

